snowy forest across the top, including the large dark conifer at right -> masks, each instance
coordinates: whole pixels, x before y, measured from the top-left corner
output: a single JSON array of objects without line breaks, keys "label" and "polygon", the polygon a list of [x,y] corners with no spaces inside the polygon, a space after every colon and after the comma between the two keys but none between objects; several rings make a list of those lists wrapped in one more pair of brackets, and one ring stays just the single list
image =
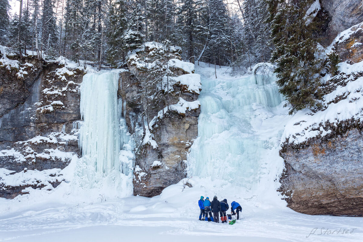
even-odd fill
[{"label": "snowy forest across the top, including the large dark conifer at right", "polygon": [[[122,66],[146,41],[181,46],[183,60],[243,66],[272,62],[291,113],[318,107],[321,75],[337,55],[318,48],[316,0],[0,0],[0,44],[20,58]],[[14,11],[13,11],[14,12]]]}]

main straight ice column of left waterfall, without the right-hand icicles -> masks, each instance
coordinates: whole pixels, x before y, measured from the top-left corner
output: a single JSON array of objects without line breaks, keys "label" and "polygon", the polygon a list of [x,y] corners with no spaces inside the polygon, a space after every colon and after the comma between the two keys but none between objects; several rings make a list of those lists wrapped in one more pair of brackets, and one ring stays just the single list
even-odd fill
[{"label": "main straight ice column of left waterfall, without the right-hand icicles", "polygon": [[119,171],[119,75],[113,72],[88,73],[81,85],[81,125],[79,145],[86,167],[82,175],[90,185],[111,172]]}]

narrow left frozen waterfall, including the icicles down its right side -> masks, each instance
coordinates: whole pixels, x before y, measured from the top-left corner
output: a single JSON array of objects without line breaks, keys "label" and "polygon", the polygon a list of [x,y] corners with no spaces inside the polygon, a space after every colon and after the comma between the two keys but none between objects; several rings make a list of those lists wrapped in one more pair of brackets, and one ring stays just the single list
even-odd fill
[{"label": "narrow left frozen waterfall, including the icicles down its right side", "polygon": [[119,75],[114,71],[88,73],[83,77],[80,88],[83,123],[79,136],[82,186],[100,186],[98,183],[105,180],[107,186],[118,187],[132,168],[133,147],[123,118],[124,105],[117,98],[118,80]]}]

